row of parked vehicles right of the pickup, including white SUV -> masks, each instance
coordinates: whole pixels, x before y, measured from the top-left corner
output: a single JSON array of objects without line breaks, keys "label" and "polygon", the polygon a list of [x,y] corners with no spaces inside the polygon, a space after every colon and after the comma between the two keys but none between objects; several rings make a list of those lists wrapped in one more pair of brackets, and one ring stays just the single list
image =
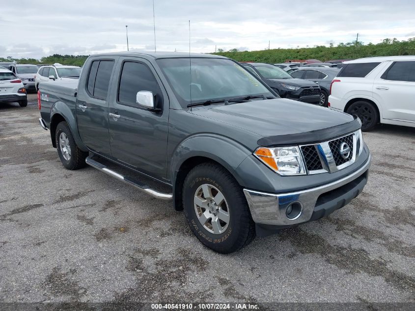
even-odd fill
[{"label": "row of parked vehicles right of the pickup, including white SUV", "polygon": [[242,65],[280,97],[359,116],[363,131],[377,123],[415,127],[415,56],[360,58],[341,69],[332,63]]}]

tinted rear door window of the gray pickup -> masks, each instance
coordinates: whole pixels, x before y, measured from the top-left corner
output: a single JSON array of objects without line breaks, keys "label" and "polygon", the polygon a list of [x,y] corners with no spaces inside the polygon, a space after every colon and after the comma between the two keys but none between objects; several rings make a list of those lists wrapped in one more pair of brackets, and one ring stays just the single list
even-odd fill
[{"label": "tinted rear door window of the gray pickup", "polygon": [[113,60],[94,60],[89,71],[86,89],[92,97],[107,99]]}]

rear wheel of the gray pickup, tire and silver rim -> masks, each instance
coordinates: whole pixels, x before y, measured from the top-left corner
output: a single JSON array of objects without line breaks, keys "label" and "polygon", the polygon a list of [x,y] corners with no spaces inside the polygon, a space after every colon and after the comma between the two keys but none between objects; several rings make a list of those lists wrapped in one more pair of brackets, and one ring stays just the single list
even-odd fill
[{"label": "rear wheel of the gray pickup, tire and silver rim", "polygon": [[60,122],[56,126],[55,141],[60,162],[68,170],[78,170],[86,166],[85,159],[88,152],[78,148],[68,123]]}]

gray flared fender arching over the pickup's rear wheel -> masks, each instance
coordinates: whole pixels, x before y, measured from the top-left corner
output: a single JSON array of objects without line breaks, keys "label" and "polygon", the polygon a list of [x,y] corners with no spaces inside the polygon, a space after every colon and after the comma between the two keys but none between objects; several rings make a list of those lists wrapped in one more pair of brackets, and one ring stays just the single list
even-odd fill
[{"label": "gray flared fender arching over the pickup's rear wheel", "polygon": [[71,133],[72,136],[74,137],[74,140],[76,142],[76,144],[78,145],[78,147],[82,150],[82,151],[88,151],[88,148],[86,148],[86,146],[83,144],[81,137],[79,135],[78,132],[78,125],[77,125],[77,120],[76,120],[76,109],[74,107],[74,109],[71,109],[68,107],[67,104],[65,104],[63,101],[56,101],[55,104],[52,106],[52,110],[51,110],[51,138],[52,141],[55,140],[55,130],[52,130],[54,127],[52,127],[52,125],[57,125],[54,124],[54,120],[56,120],[56,118],[58,118],[58,116],[62,116],[66,123],[68,123],[69,128],[71,129]]}]

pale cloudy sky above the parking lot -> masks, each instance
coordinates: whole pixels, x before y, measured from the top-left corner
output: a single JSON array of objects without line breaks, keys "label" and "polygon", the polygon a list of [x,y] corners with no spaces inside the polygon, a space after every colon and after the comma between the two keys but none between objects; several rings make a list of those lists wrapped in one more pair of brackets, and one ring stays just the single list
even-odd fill
[{"label": "pale cloudy sky above the parking lot", "polygon": [[[154,0],[156,50],[337,45],[415,37],[415,0]],[[152,0],[1,1],[0,57],[154,51]]]}]

